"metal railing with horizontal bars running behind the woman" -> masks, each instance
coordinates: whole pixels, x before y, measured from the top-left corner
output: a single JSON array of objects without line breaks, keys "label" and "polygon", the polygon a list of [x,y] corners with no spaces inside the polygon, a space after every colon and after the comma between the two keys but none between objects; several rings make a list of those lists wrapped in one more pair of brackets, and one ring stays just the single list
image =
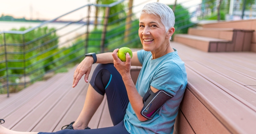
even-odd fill
[{"label": "metal railing with horizontal bars running behind the woman", "polygon": [[[44,79],[45,74],[65,71],[68,64],[79,63],[85,53],[110,52],[123,46],[142,47],[138,36],[138,14],[141,9],[126,13],[147,2],[156,1],[144,0],[118,12],[110,12],[125,1],[108,5],[87,4],[38,26],[21,28],[23,31],[0,32],[0,93],[9,96],[9,92]],[[191,7],[194,6],[200,4]],[[92,14],[99,9],[99,16]],[[180,14],[176,19],[186,15],[191,13]],[[70,21],[72,16],[80,17]],[[175,26],[175,29],[193,26],[193,23],[187,24],[188,19],[176,22],[186,24]]]}]

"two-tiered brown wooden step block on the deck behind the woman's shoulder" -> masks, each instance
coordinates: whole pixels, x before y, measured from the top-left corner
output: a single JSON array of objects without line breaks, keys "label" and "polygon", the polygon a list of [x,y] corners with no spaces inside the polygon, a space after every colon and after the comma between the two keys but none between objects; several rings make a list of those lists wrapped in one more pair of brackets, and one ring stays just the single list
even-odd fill
[{"label": "two-tiered brown wooden step block on the deck behind the woman's shoulder", "polygon": [[188,34],[176,34],[174,41],[205,52],[249,51],[253,32],[238,28],[189,28]]}]

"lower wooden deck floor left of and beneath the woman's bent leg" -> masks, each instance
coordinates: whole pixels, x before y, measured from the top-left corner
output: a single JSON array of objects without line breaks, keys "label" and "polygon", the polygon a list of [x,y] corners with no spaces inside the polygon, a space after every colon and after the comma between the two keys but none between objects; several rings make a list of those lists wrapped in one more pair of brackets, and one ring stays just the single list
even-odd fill
[{"label": "lower wooden deck floor left of and beneath the woman's bent leg", "polygon": [[[96,64],[93,65],[93,70]],[[76,67],[68,73],[60,73],[47,81],[36,82],[9,98],[0,96],[0,118],[4,127],[17,131],[61,130],[75,121],[83,108],[88,84],[80,80],[72,88]],[[106,96],[92,117],[92,129],[113,126],[108,112]]]}]

